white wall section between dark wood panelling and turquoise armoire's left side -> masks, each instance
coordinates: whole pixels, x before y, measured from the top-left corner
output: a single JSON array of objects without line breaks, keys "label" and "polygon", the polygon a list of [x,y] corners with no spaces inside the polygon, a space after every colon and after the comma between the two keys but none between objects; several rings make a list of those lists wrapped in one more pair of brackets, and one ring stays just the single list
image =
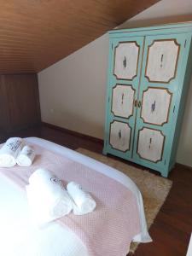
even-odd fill
[{"label": "white wall section between dark wood panelling and turquoise armoire's left side", "polygon": [[44,122],[103,137],[108,37],[38,73]]}]

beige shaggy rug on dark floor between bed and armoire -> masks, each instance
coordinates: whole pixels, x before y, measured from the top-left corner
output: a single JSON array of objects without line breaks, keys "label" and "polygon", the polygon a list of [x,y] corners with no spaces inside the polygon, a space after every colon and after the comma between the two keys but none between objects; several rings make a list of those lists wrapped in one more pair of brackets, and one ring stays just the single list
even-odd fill
[{"label": "beige shaggy rug on dark floor between bed and armoire", "polygon": [[[142,171],[136,167],[129,166],[119,160],[113,160],[112,158],[102,154],[91,152],[84,148],[78,148],[77,151],[81,154],[90,156],[93,159],[99,160],[108,166],[112,166],[131,177],[143,195],[143,204],[149,229],[150,225],[154,223],[154,218],[157,216],[157,213],[160,211],[160,207],[162,207],[166,200],[166,196],[172,188],[172,181],[164,177],[156,176],[148,171]],[[130,252],[134,253],[137,246],[138,243],[132,242]]]}]

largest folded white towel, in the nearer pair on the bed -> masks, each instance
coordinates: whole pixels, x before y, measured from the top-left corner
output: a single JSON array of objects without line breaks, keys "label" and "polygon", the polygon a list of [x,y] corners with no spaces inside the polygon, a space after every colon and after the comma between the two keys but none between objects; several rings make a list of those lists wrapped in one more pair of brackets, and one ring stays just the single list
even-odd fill
[{"label": "largest folded white towel, in the nearer pair on the bed", "polygon": [[47,169],[41,168],[32,173],[26,192],[32,216],[40,225],[72,211],[73,201],[61,179]]}]

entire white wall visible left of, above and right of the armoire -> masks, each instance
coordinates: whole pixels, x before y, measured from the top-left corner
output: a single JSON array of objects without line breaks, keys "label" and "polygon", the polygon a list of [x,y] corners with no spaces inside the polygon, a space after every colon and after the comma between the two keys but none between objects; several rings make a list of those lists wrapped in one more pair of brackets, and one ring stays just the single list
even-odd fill
[{"label": "entire white wall visible left of, above and right of the armoire", "polygon": [[[119,26],[151,26],[192,20],[191,0],[162,0]],[[108,35],[38,73],[44,122],[103,138]],[[177,161],[192,166],[192,84],[184,113]]]}]

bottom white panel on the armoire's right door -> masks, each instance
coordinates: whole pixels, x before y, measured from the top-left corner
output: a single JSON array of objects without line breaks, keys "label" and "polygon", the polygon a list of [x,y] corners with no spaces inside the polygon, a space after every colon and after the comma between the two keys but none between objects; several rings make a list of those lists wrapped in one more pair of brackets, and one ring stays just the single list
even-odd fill
[{"label": "bottom white panel on the armoire's right door", "polygon": [[138,131],[137,154],[154,163],[162,160],[165,136],[162,131],[143,127]]}]

